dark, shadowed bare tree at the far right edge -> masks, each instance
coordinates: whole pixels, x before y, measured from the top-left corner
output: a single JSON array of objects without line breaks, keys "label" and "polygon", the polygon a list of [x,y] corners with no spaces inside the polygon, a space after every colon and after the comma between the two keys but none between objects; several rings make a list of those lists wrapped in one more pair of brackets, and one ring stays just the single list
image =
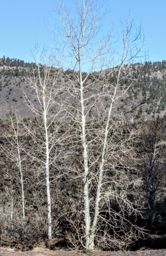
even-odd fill
[{"label": "dark, shadowed bare tree at the far right edge", "polygon": [[161,121],[150,121],[147,124],[148,133],[144,135],[142,142],[141,158],[143,164],[141,171],[145,180],[145,198],[149,225],[152,227],[155,221],[157,204],[161,203],[165,197],[165,167],[166,162],[163,158],[163,147],[166,143],[163,138],[164,127]]}]

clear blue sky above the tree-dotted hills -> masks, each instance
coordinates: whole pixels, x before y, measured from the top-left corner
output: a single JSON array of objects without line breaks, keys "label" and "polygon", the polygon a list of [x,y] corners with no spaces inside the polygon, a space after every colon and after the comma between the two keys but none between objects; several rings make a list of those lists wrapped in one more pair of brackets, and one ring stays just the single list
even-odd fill
[{"label": "clear blue sky above the tree-dotted hills", "polygon": [[[72,4],[74,0],[65,0]],[[50,20],[53,12],[51,0],[1,0],[0,1],[0,57],[33,61],[30,55],[35,40],[48,42],[51,37],[42,23]],[[165,0],[108,0],[110,17],[118,30],[120,17],[127,16],[129,9],[135,24],[142,23],[149,60],[166,59],[166,1]],[[110,19],[111,20],[111,19]],[[52,22],[51,22],[52,23]]]}]

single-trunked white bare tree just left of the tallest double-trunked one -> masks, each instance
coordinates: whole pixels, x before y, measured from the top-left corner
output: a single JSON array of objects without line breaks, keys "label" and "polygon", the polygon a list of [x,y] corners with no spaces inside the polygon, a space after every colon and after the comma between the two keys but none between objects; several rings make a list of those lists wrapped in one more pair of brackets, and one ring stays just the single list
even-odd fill
[{"label": "single-trunked white bare tree just left of the tallest double-trunked one", "polygon": [[[36,67],[33,68],[32,74],[26,77],[30,89],[26,95],[27,102],[35,117],[32,126],[28,126],[27,129],[32,138],[29,154],[35,162],[35,175],[40,183],[43,183],[41,177],[45,179],[48,239],[52,239],[50,182],[56,183],[65,173],[57,168],[56,159],[60,161],[62,158],[62,145],[67,131],[63,134],[60,131],[63,126],[61,109],[55,109],[53,102],[62,90],[57,86],[58,73],[61,70],[53,68],[45,53],[39,61],[37,51],[36,47]],[[56,174],[50,177],[51,167],[55,168]]]}]

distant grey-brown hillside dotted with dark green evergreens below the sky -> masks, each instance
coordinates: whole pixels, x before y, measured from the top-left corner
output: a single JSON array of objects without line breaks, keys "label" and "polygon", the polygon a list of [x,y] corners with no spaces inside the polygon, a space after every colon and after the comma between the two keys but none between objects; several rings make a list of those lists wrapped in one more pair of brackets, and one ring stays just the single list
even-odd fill
[{"label": "distant grey-brown hillside dotted with dark green evergreens below the sky", "polygon": [[[152,119],[166,116],[166,61],[145,62],[144,65],[136,63],[139,71],[135,73],[136,82],[129,89],[127,98],[121,98],[116,108],[116,114],[128,112],[128,106],[132,109],[130,119]],[[27,63],[19,59],[10,59],[3,56],[0,58],[0,118],[4,119],[6,113],[13,110],[21,117],[32,119],[28,105],[26,104],[26,93],[29,85],[26,74],[31,74],[35,63]],[[114,68],[113,68],[114,69]],[[67,73],[69,71],[65,71]],[[115,77],[112,77],[114,80]],[[90,77],[89,77],[90,79]],[[123,86],[130,85],[130,80],[123,80],[119,90]],[[145,99],[147,101],[145,102]],[[138,100],[143,104],[137,107]],[[103,107],[107,108],[110,102],[107,97],[103,98]],[[53,111],[53,110],[52,110]],[[129,117],[129,115],[127,115]]]}]

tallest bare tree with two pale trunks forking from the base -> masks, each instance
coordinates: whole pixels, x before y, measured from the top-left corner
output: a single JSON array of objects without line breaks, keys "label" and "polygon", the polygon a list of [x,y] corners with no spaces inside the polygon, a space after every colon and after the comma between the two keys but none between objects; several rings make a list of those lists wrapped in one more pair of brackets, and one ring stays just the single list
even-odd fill
[{"label": "tallest bare tree with two pale trunks forking from the base", "polygon": [[[55,29],[51,29],[55,34],[54,65],[64,70],[59,73],[63,92],[54,103],[76,123],[71,141],[73,152],[81,145],[83,166],[82,170],[72,165],[82,187],[83,204],[68,215],[72,227],[68,238],[86,248],[101,246],[101,242],[103,248],[125,247],[141,231],[129,218],[139,207],[128,199],[124,188],[133,168],[134,136],[132,131],[125,132],[124,113],[118,117],[116,109],[122,97],[128,98],[137,68],[133,63],[142,57],[144,38],[141,28],[132,32],[134,24],[128,16],[121,22],[118,58],[113,56],[112,29],[102,33],[104,10],[106,6],[94,0],[82,0],[75,3],[72,16],[69,8],[57,2],[55,12],[61,23],[56,20]],[[61,59],[59,66],[57,59]],[[118,66],[113,68],[115,62]],[[121,84],[124,79],[130,80],[129,86]]]}]

